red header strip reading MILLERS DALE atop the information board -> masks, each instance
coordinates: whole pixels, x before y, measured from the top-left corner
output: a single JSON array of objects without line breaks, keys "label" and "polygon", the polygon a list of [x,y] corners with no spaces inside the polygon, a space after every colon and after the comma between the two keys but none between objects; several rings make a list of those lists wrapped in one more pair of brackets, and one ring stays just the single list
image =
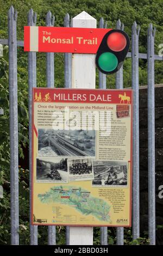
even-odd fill
[{"label": "red header strip reading MILLERS DALE atop the information board", "polygon": [[[131,104],[132,90],[33,88],[34,102]],[[122,105],[123,106],[123,105]]]}]

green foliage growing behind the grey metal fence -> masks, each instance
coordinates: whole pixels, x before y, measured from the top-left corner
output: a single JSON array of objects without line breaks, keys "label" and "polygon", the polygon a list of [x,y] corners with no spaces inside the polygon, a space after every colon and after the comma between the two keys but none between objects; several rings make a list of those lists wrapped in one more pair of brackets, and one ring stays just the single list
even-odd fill
[{"label": "green foliage growing behind the grey metal fence", "polygon": [[[13,4],[18,10],[17,39],[23,40],[23,27],[27,25],[27,13],[33,8],[37,13],[37,26],[45,26],[48,10],[55,15],[55,26],[63,26],[66,13],[70,17],[85,10],[97,19],[104,18],[108,27],[115,27],[118,19],[124,23],[124,30],[131,38],[131,25],[134,21],[141,26],[139,51],[147,52],[147,28],[150,22],[156,27],[155,54],[158,54],[162,43],[163,16],[161,0],[0,0],[0,38],[8,38],[8,9]],[[37,86],[46,84],[46,54],[37,53]],[[18,150],[19,161],[19,199],[20,199],[20,243],[29,244],[29,171],[26,163],[28,151],[28,62],[27,53],[18,47]],[[10,141],[9,141],[9,88],[8,88],[8,46],[4,47],[4,57],[0,57],[0,107],[4,115],[0,115],[0,185],[4,188],[4,198],[0,199],[0,244],[10,243]],[[131,59],[124,62],[124,87],[131,87]],[[155,83],[163,83],[162,62],[155,62]],[[96,74],[98,88],[98,71]],[[147,84],[147,61],[139,60],[140,86]],[[115,75],[107,76],[107,88],[115,88]],[[64,87],[64,54],[55,54],[55,87]],[[24,153],[25,152],[25,153]],[[25,154],[25,156],[24,156]],[[24,160],[23,160],[24,159]],[[23,163],[24,161],[24,163]],[[11,163],[12,164],[12,163]],[[39,227],[39,243],[47,244],[47,227]],[[99,245],[99,228],[94,229],[94,243]],[[116,243],[115,228],[108,229],[109,244]],[[124,242],[127,245],[147,244],[145,238],[132,241],[131,229],[124,229]],[[57,243],[65,243],[65,227],[57,227]]]}]

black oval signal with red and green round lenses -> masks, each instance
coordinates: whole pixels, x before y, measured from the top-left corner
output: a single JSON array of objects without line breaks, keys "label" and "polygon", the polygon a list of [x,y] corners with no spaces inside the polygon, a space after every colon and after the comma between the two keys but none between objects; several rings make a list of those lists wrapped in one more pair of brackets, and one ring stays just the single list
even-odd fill
[{"label": "black oval signal with red and green round lenses", "polygon": [[104,74],[117,72],[128,53],[129,36],[120,29],[112,29],[105,34],[96,53],[96,66]]}]

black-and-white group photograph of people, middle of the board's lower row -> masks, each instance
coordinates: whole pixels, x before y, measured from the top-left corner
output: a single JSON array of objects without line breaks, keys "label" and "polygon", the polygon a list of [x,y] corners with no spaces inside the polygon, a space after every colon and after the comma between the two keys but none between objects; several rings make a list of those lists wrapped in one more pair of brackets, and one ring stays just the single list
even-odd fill
[{"label": "black-and-white group photograph of people, middle of the board's lower row", "polygon": [[69,174],[69,181],[82,181],[82,180],[93,180],[93,165],[92,159],[68,159],[67,169]]}]

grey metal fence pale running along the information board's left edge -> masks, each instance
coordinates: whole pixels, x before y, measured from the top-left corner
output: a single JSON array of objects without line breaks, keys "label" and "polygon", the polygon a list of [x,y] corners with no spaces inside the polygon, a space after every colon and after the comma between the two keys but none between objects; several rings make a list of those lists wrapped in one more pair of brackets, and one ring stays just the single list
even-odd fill
[{"label": "grey metal fence pale running along the information board's left edge", "polygon": [[[28,26],[36,26],[36,13],[30,9]],[[36,87],[36,53],[28,52],[28,109],[29,109],[29,188],[30,188],[30,221],[32,198],[32,88]],[[37,245],[37,225],[30,225],[30,245]]]}]

